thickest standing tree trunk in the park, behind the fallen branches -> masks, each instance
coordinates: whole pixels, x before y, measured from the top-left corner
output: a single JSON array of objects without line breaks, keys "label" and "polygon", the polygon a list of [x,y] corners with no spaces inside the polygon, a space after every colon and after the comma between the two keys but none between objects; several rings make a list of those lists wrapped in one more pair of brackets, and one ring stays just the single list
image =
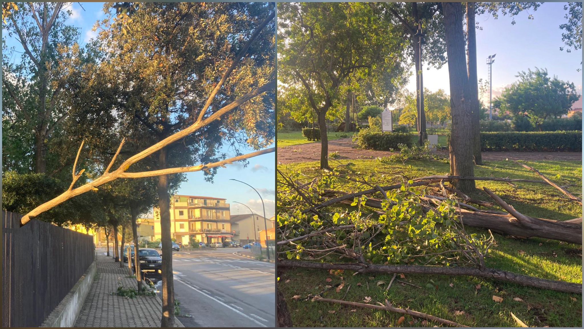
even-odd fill
[{"label": "thickest standing tree trunk in the park, behind the fallen branches", "polygon": [[[444,32],[450,78],[450,174],[474,176],[472,163],[472,101],[468,90],[467,63],[464,49],[463,8],[460,2],[443,2]],[[454,186],[465,193],[475,189],[474,180],[454,180]]]}]

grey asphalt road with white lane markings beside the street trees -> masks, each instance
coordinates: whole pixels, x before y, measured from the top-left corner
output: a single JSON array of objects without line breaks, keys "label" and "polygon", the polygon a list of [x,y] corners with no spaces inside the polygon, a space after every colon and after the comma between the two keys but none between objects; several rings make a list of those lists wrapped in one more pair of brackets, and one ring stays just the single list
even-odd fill
[{"label": "grey asphalt road with white lane markings beside the street trees", "polygon": [[243,249],[173,252],[175,299],[185,327],[275,327],[274,263],[235,251]]}]

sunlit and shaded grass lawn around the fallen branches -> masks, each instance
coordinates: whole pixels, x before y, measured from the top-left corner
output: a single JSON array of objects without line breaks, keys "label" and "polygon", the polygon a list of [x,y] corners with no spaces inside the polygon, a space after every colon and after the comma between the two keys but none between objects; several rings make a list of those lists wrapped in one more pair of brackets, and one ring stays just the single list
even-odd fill
[{"label": "sunlit and shaded grass lawn around the fallen branches", "polygon": [[[396,172],[400,170],[408,178],[447,174],[449,165],[439,161],[406,162],[384,165],[377,160],[345,160],[340,163],[352,163],[376,183],[383,184],[384,178],[379,172]],[[525,162],[540,170],[551,180],[561,185],[575,184],[568,189],[579,195],[582,193],[582,163],[570,161]],[[311,176],[318,172],[318,163],[296,163],[279,166],[283,172],[301,170]],[[476,176],[512,177],[539,179],[536,174],[513,162],[485,162],[475,167]],[[559,175],[559,176],[558,176]],[[387,176],[386,176],[387,177]],[[495,181],[477,181],[477,191],[470,194],[479,200],[491,201],[482,191],[488,187],[518,211],[531,217],[552,220],[568,220],[582,216],[582,208],[576,203],[566,201],[553,187],[543,184],[518,183],[517,187]],[[351,188],[347,183],[347,191]],[[377,196],[379,197],[379,196]],[[347,208],[347,206],[344,206]],[[326,211],[338,211],[340,206],[330,207]],[[468,233],[486,234],[486,230],[468,228]],[[494,233],[493,233],[494,234]],[[489,268],[509,270],[524,275],[543,277],[551,280],[582,283],[582,246],[565,242],[530,238],[520,239],[495,234],[496,246],[486,258]],[[405,316],[405,321],[398,324],[402,314],[360,307],[342,306],[340,304],[312,302],[304,300],[308,294],[318,294],[326,285],[345,282],[340,292],[329,290],[323,297],[363,302],[364,297],[371,297],[371,303],[389,300],[394,306],[408,308],[446,318],[471,327],[517,327],[510,313],[530,327],[582,327],[582,295],[552,292],[532,287],[523,287],[512,283],[481,279],[467,276],[405,275],[406,282],[416,286],[394,282],[391,289],[385,288],[391,275],[353,275],[345,271],[340,275],[331,275],[322,270],[279,269],[278,289],[284,293],[293,323],[297,327],[422,327],[422,320]],[[330,277],[331,282],[326,279]],[[397,279],[400,279],[398,276]],[[289,280],[289,281],[288,281]],[[383,285],[377,282],[383,280]],[[357,285],[360,283],[360,285]],[[430,283],[435,289],[428,289]],[[350,286],[350,289],[349,289]],[[347,292],[347,289],[349,291]],[[345,296],[346,293],[346,296]],[[301,298],[294,300],[293,296]],[[493,296],[503,298],[502,303],[492,300]],[[514,300],[519,298],[520,300]],[[355,311],[352,311],[355,310]],[[334,313],[332,313],[334,311]],[[455,315],[456,313],[456,315]],[[432,327],[437,323],[428,323]]]}]

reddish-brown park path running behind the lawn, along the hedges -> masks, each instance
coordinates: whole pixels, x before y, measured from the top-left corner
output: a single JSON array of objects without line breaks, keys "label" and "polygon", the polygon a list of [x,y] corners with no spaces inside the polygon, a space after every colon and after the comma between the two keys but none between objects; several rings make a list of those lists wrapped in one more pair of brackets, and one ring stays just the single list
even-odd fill
[{"label": "reddish-brown park path running behind the lawn, along the hedges", "polygon": [[[329,140],[329,153],[338,152],[339,160],[361,159],[371,160],[376,157],[384,157],[396,152],[362,150],[353,144],[351,138]],[[279,147],[277,150],[277,162],[279,165],[297,162],[312,162],[321,159],[321,142],[306,143]],[[448,151],[438,151],[437,155],[448,157]],[[496,160],[582,160],[582,152],[482,152],[485,161]]]}]

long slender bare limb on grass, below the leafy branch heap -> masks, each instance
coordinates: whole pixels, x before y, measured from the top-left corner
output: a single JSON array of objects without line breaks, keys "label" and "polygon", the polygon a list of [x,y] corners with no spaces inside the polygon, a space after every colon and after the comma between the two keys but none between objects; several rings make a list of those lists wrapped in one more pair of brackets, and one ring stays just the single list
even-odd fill
[{"label": "long slender bare limb on grass, below the leafy branch heap", "polygon": [[305,268],[323,270],[354,270],[359,273],[409,273],[409,274],[433,274],[433,275],[456,275],[456,276],[477,276],[487,279],[494,279],[503,282],[516,283],[522,286],[539,289],[554,290],[557,292],[568,292],[582,294],[582,284],[570,283],[557,280],[541,279],[540,277],[520,275],[513,272],[497,269],[446,267],[446,266],[423,266],[423,265],[377,265],[363,263],[317,263],[305,261],[290,261],[279,259],[278,268]]}]

